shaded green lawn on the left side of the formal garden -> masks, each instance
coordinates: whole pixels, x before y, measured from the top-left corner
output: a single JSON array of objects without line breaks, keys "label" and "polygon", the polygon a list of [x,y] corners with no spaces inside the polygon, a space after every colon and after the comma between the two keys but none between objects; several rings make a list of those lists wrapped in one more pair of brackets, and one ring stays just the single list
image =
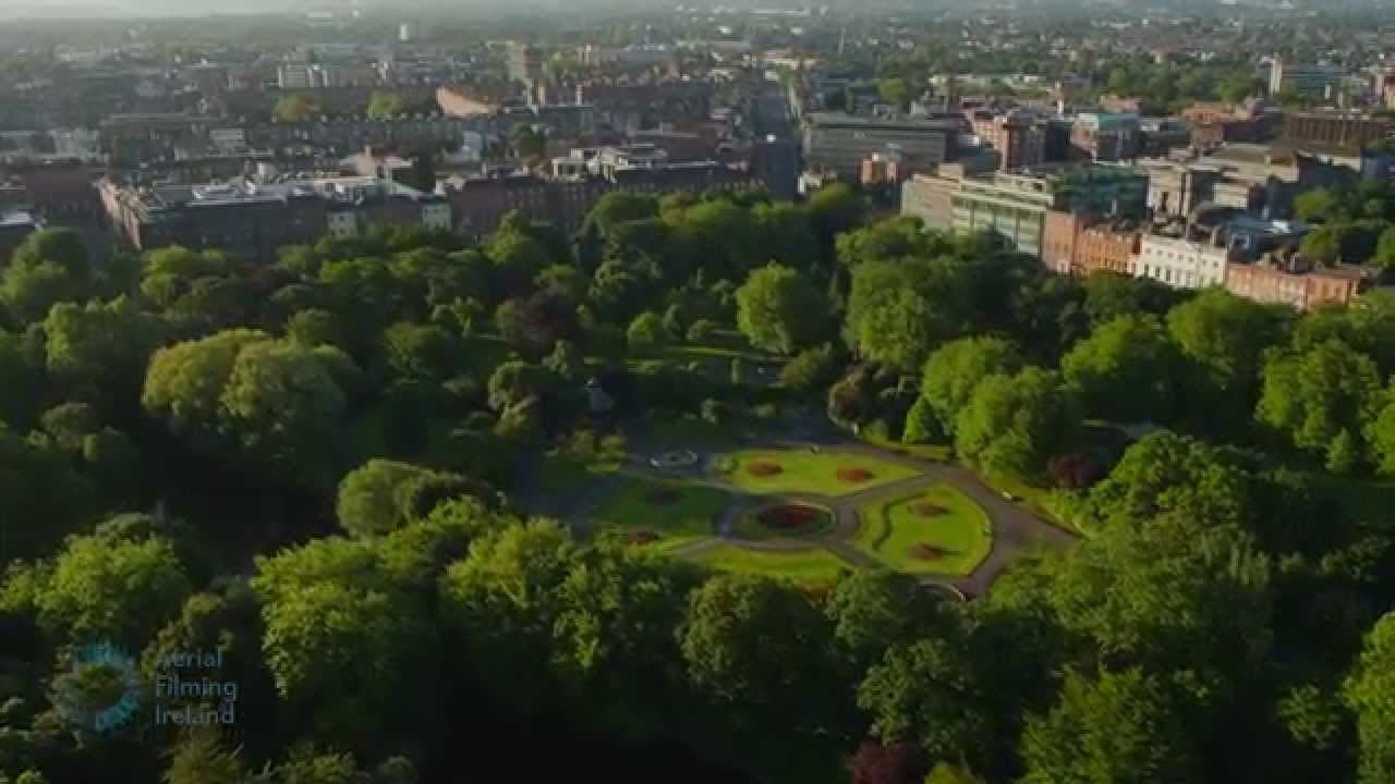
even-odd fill
[{"label": "shaded green lawn on the left side of the formal garden", "polygon": [[[667,501],[656,498],[672,494]],[[713,519],[732,498],[724,490],[681,480],[625,474],[607,492],[593,518],[601,526],[658,534],[653,547],[668,550],[711,536]]]}]

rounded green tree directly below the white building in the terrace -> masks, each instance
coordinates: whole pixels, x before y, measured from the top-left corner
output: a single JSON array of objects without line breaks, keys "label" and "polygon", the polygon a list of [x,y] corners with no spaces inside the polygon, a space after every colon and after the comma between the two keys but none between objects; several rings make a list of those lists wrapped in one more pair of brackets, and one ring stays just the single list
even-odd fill
[{"label": "rounded green tree directly below the white building in the terrace", "polygon": [[1168,421],[1176,406],[1176,347],[1152,315],[1106,321],[1060,361],[1085,409],[1115,421]]}]

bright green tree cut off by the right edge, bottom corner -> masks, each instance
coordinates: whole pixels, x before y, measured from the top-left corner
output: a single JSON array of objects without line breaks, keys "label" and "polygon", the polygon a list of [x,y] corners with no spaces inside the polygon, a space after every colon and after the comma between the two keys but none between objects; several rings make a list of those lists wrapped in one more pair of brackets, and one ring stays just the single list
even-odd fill
[{"label": "bright green tree cut off by the right edge, bottom corner", "polygon": [[1362,784],[1389,781],[1395,776],[1395,612],[1387,612],[1366,635],[1342,698],[1356,713]]}]

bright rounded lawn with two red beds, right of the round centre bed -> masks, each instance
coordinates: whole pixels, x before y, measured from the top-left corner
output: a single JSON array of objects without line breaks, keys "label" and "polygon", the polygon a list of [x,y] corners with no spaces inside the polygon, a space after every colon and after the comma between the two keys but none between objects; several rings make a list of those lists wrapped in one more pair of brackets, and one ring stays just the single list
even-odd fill
[{"label": "bright rounded lawn with two red beds, right of the round centre bed", "polygon": [[[915,505],[922,502],[946,513],[921,516]],[[993,543],[983,508],[949,484],[869,504],[858,509],[858,518],[861,525],[852,544],[898,572],[968,575],[988,558]],[[944,555],[917,558],[912,550],[918,544],[939,547]]]}]

